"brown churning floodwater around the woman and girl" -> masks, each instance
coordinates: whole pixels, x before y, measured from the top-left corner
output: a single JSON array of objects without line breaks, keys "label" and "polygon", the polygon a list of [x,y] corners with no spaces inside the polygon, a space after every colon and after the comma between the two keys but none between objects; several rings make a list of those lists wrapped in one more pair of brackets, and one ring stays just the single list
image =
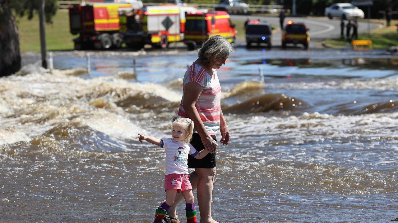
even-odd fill
[{"label": "brown churning floodwater around the woman and girl", "polygon": [[[0,221],[152,222],[164,152],[134,138],[170,136],[195,59],[93,52],[88,75],[84,53],[54,52],[60,70],[1,78]],[[237,48],[219,79],[232,139],[217,148],[217,221],[398,217],[396,54]]]}]

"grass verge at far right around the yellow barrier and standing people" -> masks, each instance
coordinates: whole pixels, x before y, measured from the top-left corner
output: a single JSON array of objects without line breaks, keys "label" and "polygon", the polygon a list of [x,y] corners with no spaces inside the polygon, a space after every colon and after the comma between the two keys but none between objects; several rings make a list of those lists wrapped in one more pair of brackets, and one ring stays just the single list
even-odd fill
[{"label": "grass verge at far right around the yellow barrier and standing people", "polygon": [[[379,23],[383,23],[384,27],[371,31],[370,36],[367,33],[359,34],[358,39],[360,40],[372,40],[372,47],[376,49],[386,49],[390,46],[398,46],[398,32],[396,28],[385,27],[385,21],[378,20]],[[391,21],[390,25],[396,25],[397,20]],[[344,39],[329,39],[325,43],[332,47],[345,47],[347,40]]]}]

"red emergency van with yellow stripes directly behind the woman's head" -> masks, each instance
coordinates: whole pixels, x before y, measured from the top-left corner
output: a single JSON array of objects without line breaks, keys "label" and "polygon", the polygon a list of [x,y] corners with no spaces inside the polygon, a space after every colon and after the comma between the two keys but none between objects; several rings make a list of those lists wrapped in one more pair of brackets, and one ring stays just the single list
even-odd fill
[{"label": "red emergency van with yellow stripes directly behind the woman's head", "polygon": [[195,49],[211,36],[220,35],[235,42],[235,24],[231,22],[230,16],[224,11],[198,11],[187,13],[184,42],[189,49]]}]

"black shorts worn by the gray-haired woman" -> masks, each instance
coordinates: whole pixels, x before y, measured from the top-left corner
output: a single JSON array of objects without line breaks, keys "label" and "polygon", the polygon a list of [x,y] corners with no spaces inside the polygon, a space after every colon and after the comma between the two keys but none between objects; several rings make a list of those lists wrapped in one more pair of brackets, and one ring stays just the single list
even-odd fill
[{"label": "black shorts worn by the gray-haired woman", "polygon": [[[216,136],[212,135],[211,138],[217,141]],[[200,152],[205,149],[205,146],[202,143],[202,140],[197,133],[193,133],[191,145]],[[202,159],[198,160],[193,158],[191,155],[188,156],[188,167],[189,168],[207,168],[211,169],[216,167],[216,153],[209,153]]]}]

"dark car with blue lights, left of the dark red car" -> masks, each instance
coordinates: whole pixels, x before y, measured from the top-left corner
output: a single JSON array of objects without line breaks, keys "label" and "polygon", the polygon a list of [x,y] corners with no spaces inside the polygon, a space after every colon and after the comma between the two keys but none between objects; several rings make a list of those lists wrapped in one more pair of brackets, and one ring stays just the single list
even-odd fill
[{"label": "dark car with blue lights, left of the dark red car", "polygon": [[261,43],[265,43],[268,48],[271,48],[271,34],[272,28],[269,22],[251,20],[248,25],[246,25],[247,48],[250,48],[252,43],[256,43],[258,46]]}]

